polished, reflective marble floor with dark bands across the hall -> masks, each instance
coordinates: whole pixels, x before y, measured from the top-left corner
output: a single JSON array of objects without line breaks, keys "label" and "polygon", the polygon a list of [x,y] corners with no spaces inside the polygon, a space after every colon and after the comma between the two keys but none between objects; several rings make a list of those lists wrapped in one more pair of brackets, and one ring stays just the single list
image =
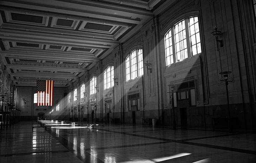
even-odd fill
[{"label": "polished, reflective marble floor with dark bands across the hall", "polygon": [[0,143],[0,163],[256,162],[255,132],[116,124],[32,131],[21,121],[0,130]]}]

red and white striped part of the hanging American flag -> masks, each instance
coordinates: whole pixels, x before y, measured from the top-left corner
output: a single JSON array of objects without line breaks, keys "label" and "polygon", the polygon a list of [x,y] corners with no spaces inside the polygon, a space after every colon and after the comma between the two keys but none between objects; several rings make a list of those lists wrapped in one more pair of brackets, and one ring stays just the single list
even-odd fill
[{"label": "red and white striped part of the hanging American flag", "polygon": [[37,92],[37,106],[53,105],[53,80],[46,80],[46,91]]}]

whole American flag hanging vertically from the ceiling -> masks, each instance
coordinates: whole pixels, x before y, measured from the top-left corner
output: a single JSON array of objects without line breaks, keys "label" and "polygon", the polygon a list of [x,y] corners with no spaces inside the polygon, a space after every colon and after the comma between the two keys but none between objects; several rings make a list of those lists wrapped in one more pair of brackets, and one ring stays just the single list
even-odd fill
[{"label": "whole American flag hanging vertically from the ceiling", "polygon": [[53,80],[37,80],[37,106],[52,106]]}]

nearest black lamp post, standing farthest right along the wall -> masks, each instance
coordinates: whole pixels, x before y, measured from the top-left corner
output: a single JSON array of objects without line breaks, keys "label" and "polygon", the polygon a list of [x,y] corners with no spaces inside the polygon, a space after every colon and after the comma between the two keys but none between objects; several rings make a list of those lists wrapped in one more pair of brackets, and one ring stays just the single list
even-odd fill
[{"label": "nearest black lamp post, standing farthest right along the wall", "polygon": [[232,81],[228,81],[228,74],[232,73],[231,71],[223,71],[220,72],[219,74],[223,75],[223,79],[224,80],[220,80],[220,81],[225,81],[225,85],[226,85],[226,96],[227,96],[227,103],[228,103],[228,131],[229,133],[232,133],[232,123],[231,123],[231,118],[230,118],[230,108],[229,108],[229,96],[228,96],[228,82],[232,82]]}]

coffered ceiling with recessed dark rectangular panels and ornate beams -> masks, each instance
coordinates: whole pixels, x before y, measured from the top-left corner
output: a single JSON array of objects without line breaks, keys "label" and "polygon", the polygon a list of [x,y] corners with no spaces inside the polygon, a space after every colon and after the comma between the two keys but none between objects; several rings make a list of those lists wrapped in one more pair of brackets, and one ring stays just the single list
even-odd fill
[{"label": "coffered ceiling with recessed dark rectangular panels and ornate beams", "polygon": [[67,87],[166,0],[1,0],[0,55],[16,86]]}]

